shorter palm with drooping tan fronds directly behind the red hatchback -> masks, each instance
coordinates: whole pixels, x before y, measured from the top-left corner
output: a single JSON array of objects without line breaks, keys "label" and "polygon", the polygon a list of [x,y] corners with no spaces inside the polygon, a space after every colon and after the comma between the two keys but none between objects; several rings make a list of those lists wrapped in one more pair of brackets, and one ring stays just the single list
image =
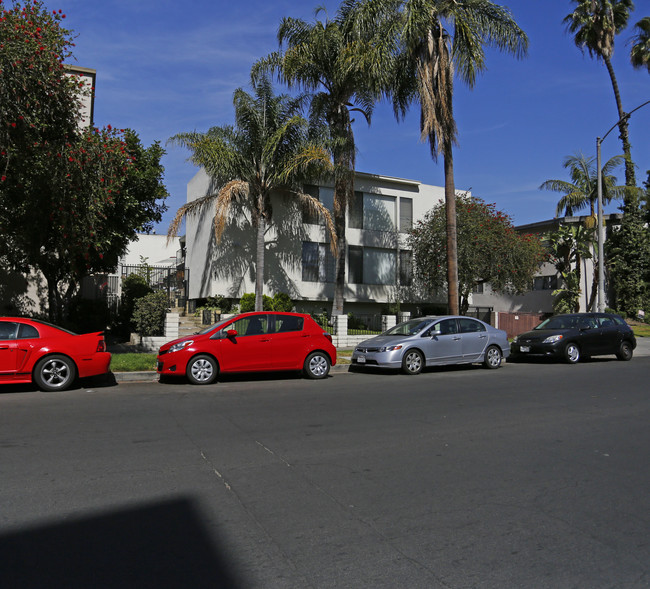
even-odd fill
[{"label": "shorter palm with drooping tan fronds directly behind the red hatchback", "polygon": [[189,160],[203,167],[219,187],[214,193],[178,209],[168,235],[176,235],[187,215],[214,205],[217,241],[226,228],[234,203],[243,205],[256,230],[255,309],[262,310],[265,233],[271,224],[271,193],[290,192],[312,213],[319,213],[336,237],[327,209],[302,191],[302,182],[328,169],[329,156],[322,145],[310,141],[307,121],[300,115],[303,99],[274,95],[268,78],[253,83],[254,96],[239,88],[233,96],[235,125],[212,127],[206,133],[174,135],[170,142],[190,150]]}]

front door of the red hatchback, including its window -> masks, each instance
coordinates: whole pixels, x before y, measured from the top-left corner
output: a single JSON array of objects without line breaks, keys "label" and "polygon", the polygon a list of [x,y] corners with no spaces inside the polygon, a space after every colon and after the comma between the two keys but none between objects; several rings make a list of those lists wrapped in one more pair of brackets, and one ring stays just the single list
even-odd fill
[{"label": "front door of the red hatchback, including its window", "polygon": [[[220,370],[224,372],[262,371],[271,368],[271,339],[268,313],[241,317],[221,330],[222,337],[212,340]],[[237,335],[223,337],[229,330]]]}]

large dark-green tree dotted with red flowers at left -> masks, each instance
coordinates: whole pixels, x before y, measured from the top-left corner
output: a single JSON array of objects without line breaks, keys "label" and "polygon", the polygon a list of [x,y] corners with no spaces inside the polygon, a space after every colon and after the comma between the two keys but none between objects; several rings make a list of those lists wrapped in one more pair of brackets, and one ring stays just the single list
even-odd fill
[{"label": "large dark-green tree dotted with red flowers at left", "polygon": [[167,192],[158,143],[132,131],[79,127],[83,83],[66,73],[65,15],[40,0],[0,0],[0,258],[47,282],[61,321],[81,279],[115,267],[160,221]]}]

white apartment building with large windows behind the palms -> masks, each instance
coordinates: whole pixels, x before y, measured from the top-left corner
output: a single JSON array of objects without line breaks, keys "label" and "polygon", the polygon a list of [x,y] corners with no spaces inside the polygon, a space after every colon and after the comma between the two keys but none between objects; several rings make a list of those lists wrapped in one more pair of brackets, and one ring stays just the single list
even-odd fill
[{"label": "white apartment building with large windows behind the palms", "polygon": [[[200,170],[187,186],[191,202],[215,192]],[[347,211],[345,311],[376,313],[399,301],[413,311],[446,304],[446,295],[418,293],[412,286],[412,255],[406,232],[444,200],[444,188],[415,180],[357,173]],[[305,192],[330,211],[331,184],[310,185]],[[287,293],[296,309],[331,310],[334,257],[324,223],[301,210],[296,200],[273,195],[273,222],[266,235],[265,286],[269,296]],[[186,220],[186,267],[190,301],[213,295],[239,299],[255,290],[255,231],[250,218],[233,211],[221,240],[213,230],[214,208]]]}]

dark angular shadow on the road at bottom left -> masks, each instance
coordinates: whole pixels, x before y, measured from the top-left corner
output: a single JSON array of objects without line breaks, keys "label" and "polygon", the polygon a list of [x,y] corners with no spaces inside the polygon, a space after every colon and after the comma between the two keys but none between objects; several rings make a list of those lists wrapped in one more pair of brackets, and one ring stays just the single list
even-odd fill
[{"label": "dark angular shadow on the road at bottom left", "polygon": [[188,499],[0,536],[0,586],[21,589],[243,587]]}]

